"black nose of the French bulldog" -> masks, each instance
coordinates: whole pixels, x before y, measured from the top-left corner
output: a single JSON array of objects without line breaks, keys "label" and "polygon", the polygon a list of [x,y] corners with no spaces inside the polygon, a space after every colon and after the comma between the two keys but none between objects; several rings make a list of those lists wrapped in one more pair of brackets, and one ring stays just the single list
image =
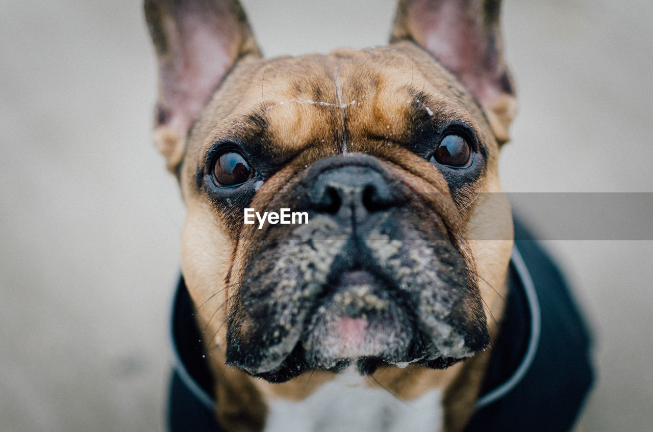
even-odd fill
[{"label": "black nose of the French bulldog", "polygon": [[311,207],[343,221],[360,223],[397,204],[381,166],[368,155],[323,159],[313,164],[307,179],[313,181]]}]

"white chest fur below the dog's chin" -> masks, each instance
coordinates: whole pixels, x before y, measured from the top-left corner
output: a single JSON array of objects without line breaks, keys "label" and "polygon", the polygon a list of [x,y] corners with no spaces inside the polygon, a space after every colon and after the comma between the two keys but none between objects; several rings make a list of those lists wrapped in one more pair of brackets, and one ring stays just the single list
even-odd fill
[{"label": "white chest fur below the dog's chin", "polygon": [[299,402],[268,401],[264,432],[437,432],[441,428],[441,390],[414,401],[400,401],[367,377],[345,371]]}]

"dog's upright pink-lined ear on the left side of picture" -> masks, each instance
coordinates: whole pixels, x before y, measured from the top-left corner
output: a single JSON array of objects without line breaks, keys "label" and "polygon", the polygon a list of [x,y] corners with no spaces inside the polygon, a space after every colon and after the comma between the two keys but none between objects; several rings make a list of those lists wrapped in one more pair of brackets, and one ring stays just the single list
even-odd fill
[{"label": "dog's upright pink-lined ear on the left side of picture", "polygon": [[159,63],[154,141],[178,172],[185,140],[226,72],[261,52],[237,0],[145,0]]}]

